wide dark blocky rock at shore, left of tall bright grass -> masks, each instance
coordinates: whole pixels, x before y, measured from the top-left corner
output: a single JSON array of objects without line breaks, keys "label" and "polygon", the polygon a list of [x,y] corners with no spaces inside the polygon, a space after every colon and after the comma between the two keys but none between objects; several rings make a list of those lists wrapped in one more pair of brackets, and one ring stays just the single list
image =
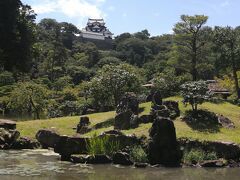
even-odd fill
[{"label": "wide dark blocky rock at shore, left of tall bright grass", "polygon": [[62,159],[70,158],[72,154],[87,153],[88,138],[60,136],[54,147],[54,152],[59,153]]}]

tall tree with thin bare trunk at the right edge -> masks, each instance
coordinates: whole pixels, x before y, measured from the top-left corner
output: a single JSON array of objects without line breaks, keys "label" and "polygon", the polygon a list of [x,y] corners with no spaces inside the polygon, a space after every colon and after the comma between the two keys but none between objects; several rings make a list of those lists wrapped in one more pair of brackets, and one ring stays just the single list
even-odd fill
[{"label": "tall tree with thin bare trunk at the right edge", "polygon": [[240,88],[237,70],[240,68],[240,30],[231,27],[215,27],[215,44],[219,53],[219,61],[224,61],[226,67],[230,67],[233,74],[235,90],[240,99]]}]

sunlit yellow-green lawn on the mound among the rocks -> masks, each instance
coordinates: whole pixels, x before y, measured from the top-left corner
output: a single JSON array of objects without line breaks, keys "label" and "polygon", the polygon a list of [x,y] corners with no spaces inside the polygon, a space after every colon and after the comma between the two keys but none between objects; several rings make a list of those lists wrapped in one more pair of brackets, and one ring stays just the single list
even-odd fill
[{"label": "sunlit yellow-green lawn on the mound among the rocks", "polygon": [[[184,114],[189,107],[184,107],[181,103],[181,98],[172,97],[168,98],[171,100],[179,101],[181,113]],[[148,114],[150,112],[151,103],[143,103],[140,105],[144,111],[140,114]],[[180,118],[174,121],[177,137],[188,137],[199,140],[222,140],[222,141],[232,141],[240,144],[240,107],[234,106],[230,103],[204,103],[200,105],[201,109],[207,109],[209,111],[222,114],[230,118],[236,128],[235,129],[226,129],[220,128],[218,132],[200,132],[197,130],[191,129],[185,122],[181,121]],[[92,126],[97,123],[104,122],[106,120],[112,119],[115,116],[115,112],[106,112],[106,113],[96,113],[89,115]],[[47,120],[32,120],[32,121],[22,121],[17,123],[17,129],[21,132],[22,136],[34,137],[36,132],[41,128],[55,128],[60,134],[65,135],[74,135],[75,130],[73,127],[76,127],[79,122],[79,116],[74,117],[62,117],[62,118],[53,118]],[[151,127],[149,124],[141,124],[136,129],[123,131],[127,134],[136,134],[138,136],[146,135],[148,136],[148,130]],[[105,130],[113,129],[112,126],[94,130],[86,135],[92,135],[93,133],[101,133]]]}]

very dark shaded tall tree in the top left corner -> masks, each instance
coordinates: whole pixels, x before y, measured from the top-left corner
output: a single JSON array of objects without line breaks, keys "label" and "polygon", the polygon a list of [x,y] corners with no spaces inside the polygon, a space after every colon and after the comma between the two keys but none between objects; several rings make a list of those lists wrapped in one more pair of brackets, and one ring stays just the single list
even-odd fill
[{"label": "very dark shaded tall tree in the top left corner", "polygon": [[20,0],[0,1],[0,66],[28,72],[35,41],[35,13]]}]

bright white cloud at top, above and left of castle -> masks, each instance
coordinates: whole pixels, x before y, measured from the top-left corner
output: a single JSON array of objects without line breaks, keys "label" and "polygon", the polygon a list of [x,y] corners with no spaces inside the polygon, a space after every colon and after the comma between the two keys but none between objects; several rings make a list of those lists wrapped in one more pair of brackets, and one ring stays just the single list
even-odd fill
[{"label": "bright white cloud at top, above and left of castle", "polygon": [[105,0],[42,0],[33,4],[37,14],[63,13],[70,18],[105,17],[100,6]]}]

